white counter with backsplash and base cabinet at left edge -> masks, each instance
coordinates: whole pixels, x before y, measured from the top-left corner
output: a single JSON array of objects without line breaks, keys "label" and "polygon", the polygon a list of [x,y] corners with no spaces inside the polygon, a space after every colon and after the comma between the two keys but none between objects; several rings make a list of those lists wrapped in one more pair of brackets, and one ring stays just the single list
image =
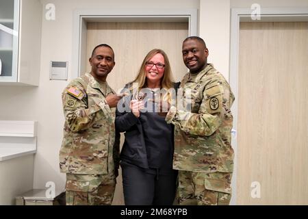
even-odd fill
[{"label": "white counter with backsplash and base cabinet at left edge", "polygon": [[36,121],[0,120],[0,205],[33,188]]}]

